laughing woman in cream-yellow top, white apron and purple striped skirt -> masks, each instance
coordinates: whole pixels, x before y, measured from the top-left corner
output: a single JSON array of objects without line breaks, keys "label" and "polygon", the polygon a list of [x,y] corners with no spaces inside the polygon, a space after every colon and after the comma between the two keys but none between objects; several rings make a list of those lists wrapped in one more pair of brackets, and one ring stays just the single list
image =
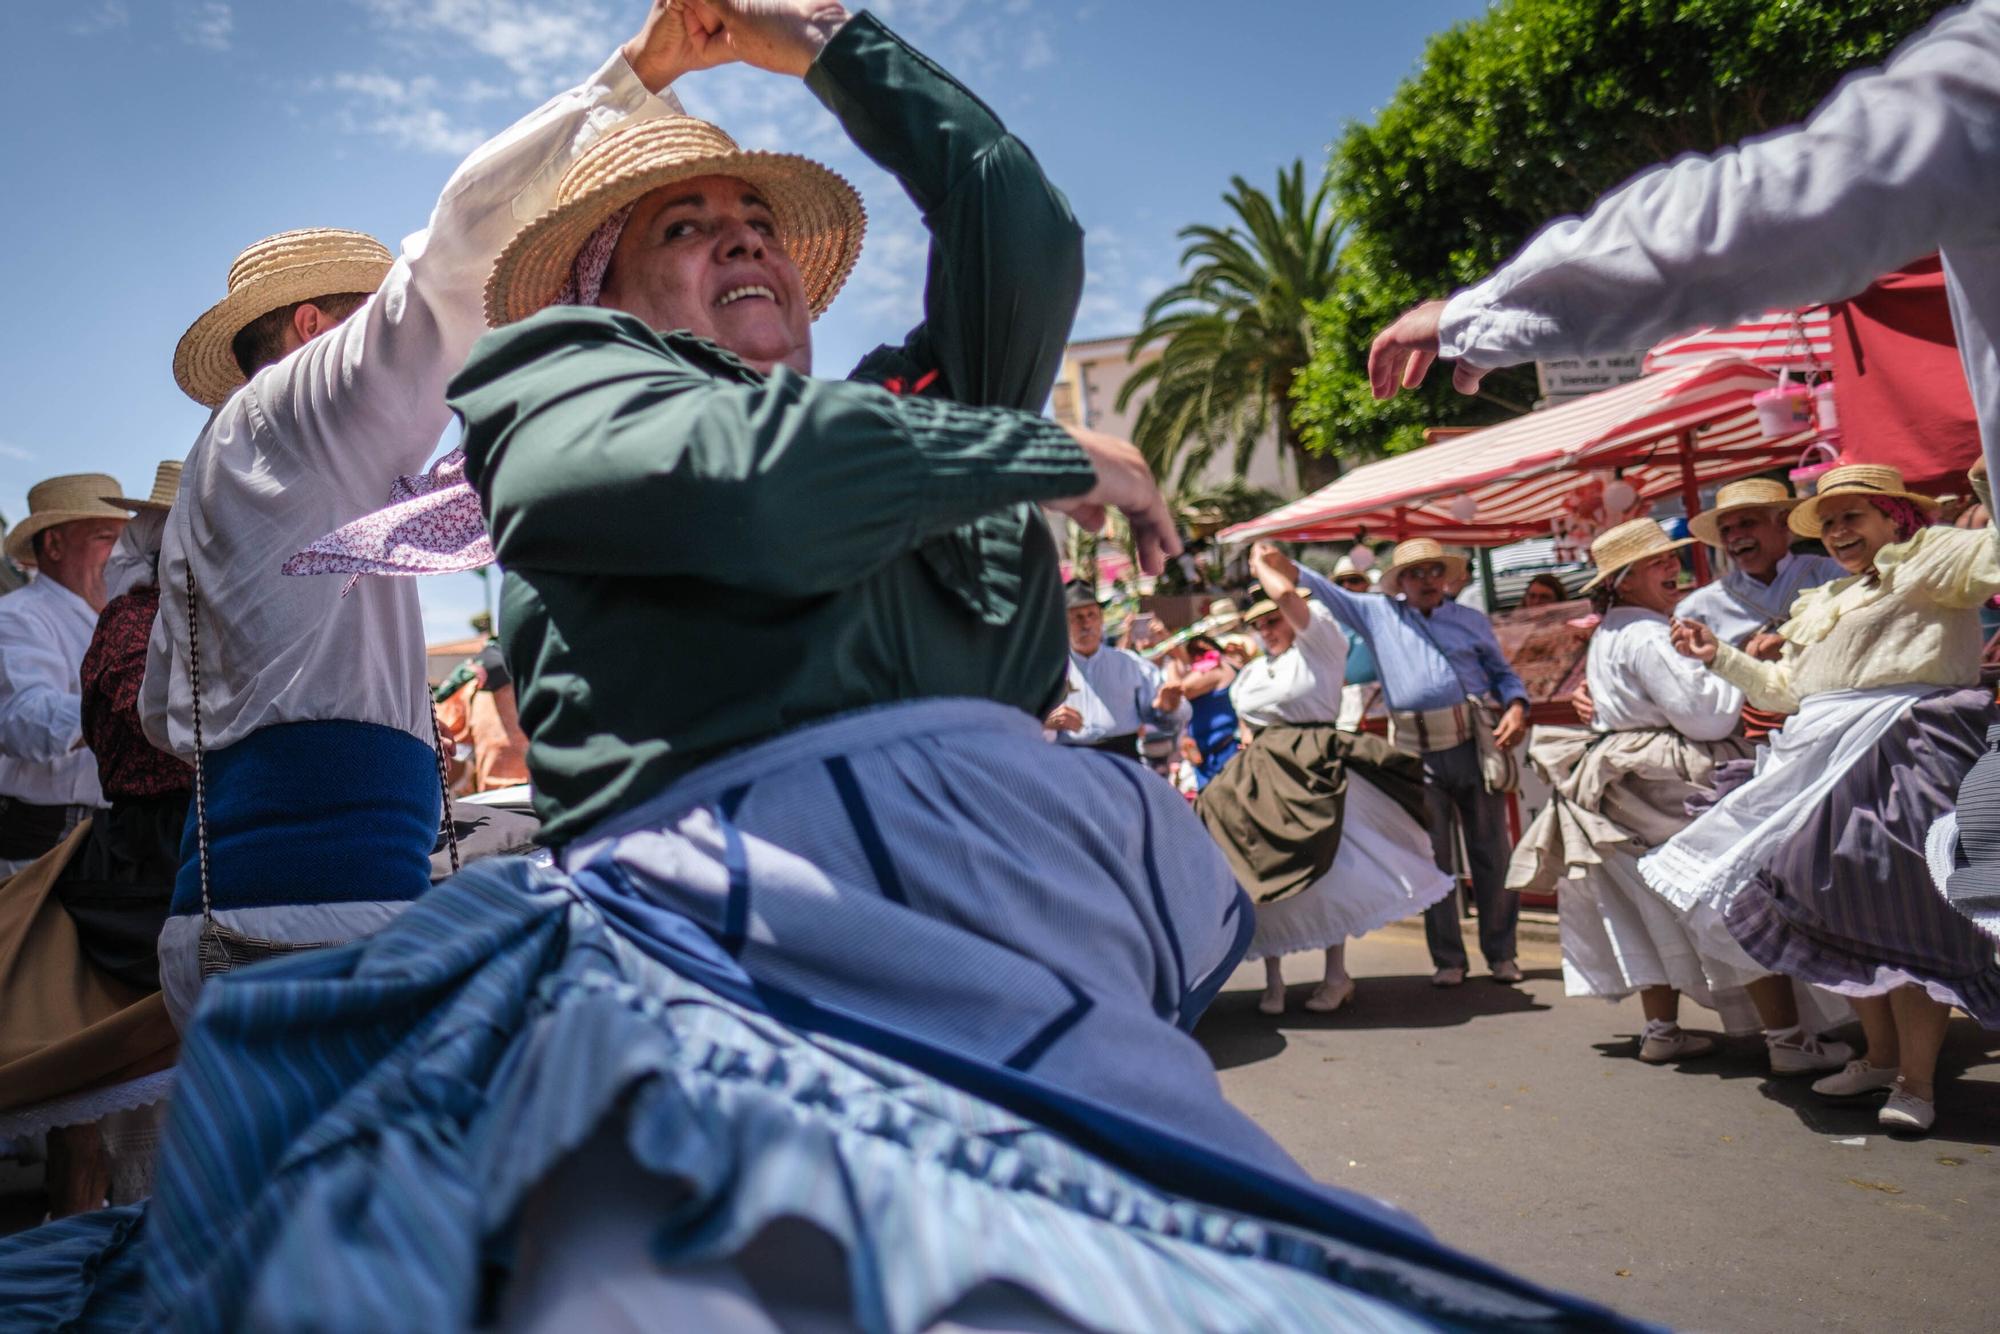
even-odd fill
[{"label": "laughing woman in cream-yellow top, white apron and purple striped skirt", "polygon": [[1936,1118],[1950,1008],[2000,1028],[1992,940],[1938,896],[1924,860],[1994,720],[1978,608],[2000,592],[2000,554],[1992,530],[1932,526],[1936,510],[1894,468],[1834,468],[1790,526],[1848,578],[1800,596],[1778,662],[1676,624],[1680,652],[1794,718],[1756,778],[1640,862],[1706,940],[1726,932],[1760,966],[1854,1002],[1868,1050],[1814,1092],[1886,1092],[1880,1122],[1898,1134]]}]

